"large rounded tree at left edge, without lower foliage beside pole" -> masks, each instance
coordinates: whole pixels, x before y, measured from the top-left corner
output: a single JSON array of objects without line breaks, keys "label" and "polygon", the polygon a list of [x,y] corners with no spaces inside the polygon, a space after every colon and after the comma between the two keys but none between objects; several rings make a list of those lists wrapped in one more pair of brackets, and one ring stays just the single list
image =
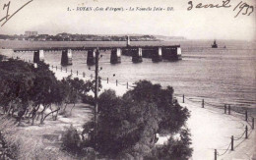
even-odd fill
[{"label": "large rounded tree at left edge, without lower foliage beside pole", "polygon": [[44,117],[44,111],[52,104],[60,106],[65,99],[62,83],[56,80],[48,70],[48,65],[42,62],[35,69],[32,64],[9,59],[0,62],[0,74],[0,105],[4,113],[15,116],[19,123],[31,110],[29,119],[32,118],[33,124],[42,105],[43,110],[39,113],[42,124],[48,116]]}]

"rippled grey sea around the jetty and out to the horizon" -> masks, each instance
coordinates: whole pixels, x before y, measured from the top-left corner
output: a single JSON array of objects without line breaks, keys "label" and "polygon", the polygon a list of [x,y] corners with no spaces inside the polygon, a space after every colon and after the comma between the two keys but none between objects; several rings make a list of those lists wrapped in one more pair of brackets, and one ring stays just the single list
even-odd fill
[{"label": "rippled grey sea around the jetty and out to the horizon", "polygon": [[[85,42],[85,45],[101,43],[103,42]],[[131,57],[122,56],[121,64],[111,65],[110,52],[106,51],[101,53],[103,57],[99,61],[99,66],[102,67],[102,71],[99,76],[109,78],[112,82],[118,80],[121,83],[152,80],[163,86],[173,86],[175,93],[178,94],[205,98],[215,103],[255,107],[255,42],[218,41],[220,46],[218,49],[210,47],[212,41],[202,40],[133,42],[133,44],[143,45],[158,43],[180,44],[183,59],[178,62],[153,63],[151,59],[144,58],[143,63],[133,64]],[[32,60],[32,52],[13,53],[10,50],[1,50],[1,53]],[[61,52],[44,54],[46,63],[60,67]],[[94,74],[93,71],[89,71],[86,59],[87,52],[73,52],[73,66],[69,66],[68,70]]]}]

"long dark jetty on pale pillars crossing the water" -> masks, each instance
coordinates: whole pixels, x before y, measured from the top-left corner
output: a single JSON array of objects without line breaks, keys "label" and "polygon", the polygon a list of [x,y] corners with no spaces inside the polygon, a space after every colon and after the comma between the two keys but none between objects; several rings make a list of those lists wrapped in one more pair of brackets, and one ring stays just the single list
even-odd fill
[{"label": "long dark jetty on pale pillars crossing the water", "polygon": [[20,46],[13,48],[14,52],[33,52],[33,62],[37,63],[43,61],[44,52],[61,51],[61,65],[72,65],[73,51],[86,51],[87,64],[95,65],[96,63],[96,49],[98,51],[111,51],[110,63],[121,63],[121,55],[132,56],[132,62],[140,63],[142,58],[152,58],[153,62],[160,62],[162,60],[177,61],[181,60],[180,45],[131,45],[130,38],[127,36],[126,45],[100,45],[100,46],[85,46],[80,44],[69,44],[63,42],[63,45],[47,44],[33,46]]}]

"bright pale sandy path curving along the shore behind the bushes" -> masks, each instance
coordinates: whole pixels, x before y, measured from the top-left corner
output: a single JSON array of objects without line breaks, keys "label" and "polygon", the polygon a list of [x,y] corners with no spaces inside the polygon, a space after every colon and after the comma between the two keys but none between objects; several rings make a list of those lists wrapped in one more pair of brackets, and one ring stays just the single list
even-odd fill
[{"label": "bright pale sandy path curving along the shore behind the bushes", "polygon": [[[58,80],[61,80],[69,75],[70,72],[60,69],[51,68]],[[82,80],[92,80],[91,76],[78,75],[73,73],[72,77]],[[110,82],[111,81],[111,82]],[[124,94],[128,89],[131,89],[131,84],[118,83],[114,80],[101,80],[102,90],[113,89],[117,95]],[[93,95],[93,92],[90,93]],[[235,159],[255,159],[255,130],[247,122],[240,117],[224,114],[224,111],[208,108],[201,108],[200,103],[195,103],[185,100],[182,103],[181,97],[176,97],[181,106],[187,107],[191,112],[191,117],[187,122],[187,127],[191,131],[192,147],[194,148],[193,160],[214,159],[215,149],[218,151],[218,159],[235,160]],[[241,116],[242,117],[242,116]],[[248,139],[245,139],[245,127],[248,126]],[[234,151],[230,151],[230,137],[234,136]],[[241,136],[242,135],[242,136]],[[241,137],[239,137],[241,136]],[[236,140],[237,139],[237,140]],[[160,137],[159,143],[163,143],[166,137]],[[224,154],[224,155],[222,155]]]}]

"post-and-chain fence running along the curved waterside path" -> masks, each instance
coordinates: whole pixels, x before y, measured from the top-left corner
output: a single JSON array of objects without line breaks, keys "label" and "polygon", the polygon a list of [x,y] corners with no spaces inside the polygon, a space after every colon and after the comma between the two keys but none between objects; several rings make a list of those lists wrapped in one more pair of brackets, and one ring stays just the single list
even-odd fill
[{"label": "post-and-chain fence running along the curved waterside path", "polygon": [[[32,63],[31,60],[25,60],[22,59],[25,62]],[[69,69],[67,67],[62,67],[62,66],[49,66],[50,70],[54,71],[60,71],[62,73],[67,73],[67,75],[72,75],[73,77],[77,78],[82,78],[83,80],[95,80],[94,74],[88,74],[85,72],[79,72],[79,71],[74,71],[72,69]],[[109,79],[109,78],[101,78],[100,80],[106,81],[106,83],[112,83],[115,84],[116,86],[122,85],[125,86],[126,89],[133,88],[135,87],[132,82],[123,82],[115,79]],[[208,102],[204,98],[200,97],[190,97],[186,96],[184,94],[174,94],[175,97],[179,97],[181,99],[180,103],[186,103],[187,101],[189,103],[195,104],[196,106],[201,106],[202,109],[206,109],[209,112],[213,112],[216,114],[223,114],[226,116],[232,116],[240,121],[244,121],[247,125],[241,129],[243,132],[240,133],[239,135],[228,135],[230,137],[229,141],[226,141],[226,144],[222,147],[219,148],[213,148],[213,153],[215,160],[218,159],[218,157],[224,156],[228,151],[234,151],[235,148],[237,148],[244,140],[248,139],[250,137],[250,134],[254,131],[254,117],[250,115],[248,112],[249,108],[245,107],[239,107],[234,104],[229,104],[229,103],[213,103],[213,102]]]}]

